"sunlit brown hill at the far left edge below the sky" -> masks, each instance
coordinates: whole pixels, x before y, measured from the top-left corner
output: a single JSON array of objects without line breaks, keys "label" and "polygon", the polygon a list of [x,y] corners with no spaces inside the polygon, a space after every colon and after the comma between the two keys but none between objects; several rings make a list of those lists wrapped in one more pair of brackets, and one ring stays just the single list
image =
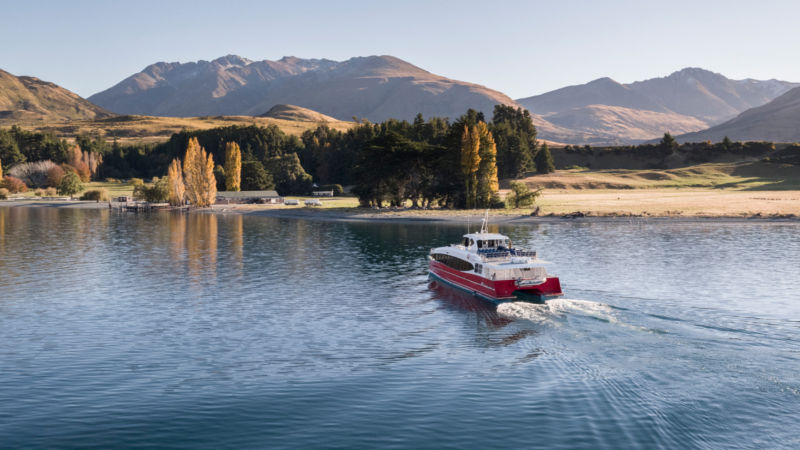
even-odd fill
[{"label": "sunlit brown hill at the far left edge below the sky", "polygon": [[0,123],[112,116],[113,113],[54,83],[0,70]]}]

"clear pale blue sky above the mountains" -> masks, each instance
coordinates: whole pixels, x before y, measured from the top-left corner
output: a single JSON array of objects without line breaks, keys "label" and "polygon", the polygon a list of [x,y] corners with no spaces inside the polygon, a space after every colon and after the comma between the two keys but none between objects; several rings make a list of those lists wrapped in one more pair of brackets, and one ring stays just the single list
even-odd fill
[{"label": "clear pale blue sky above the mountains", "polygon": [[158,61],[392,55],[511,98],[702,67],[800,81],[800,2],[0,0],[0,69],[83,97]]}]

